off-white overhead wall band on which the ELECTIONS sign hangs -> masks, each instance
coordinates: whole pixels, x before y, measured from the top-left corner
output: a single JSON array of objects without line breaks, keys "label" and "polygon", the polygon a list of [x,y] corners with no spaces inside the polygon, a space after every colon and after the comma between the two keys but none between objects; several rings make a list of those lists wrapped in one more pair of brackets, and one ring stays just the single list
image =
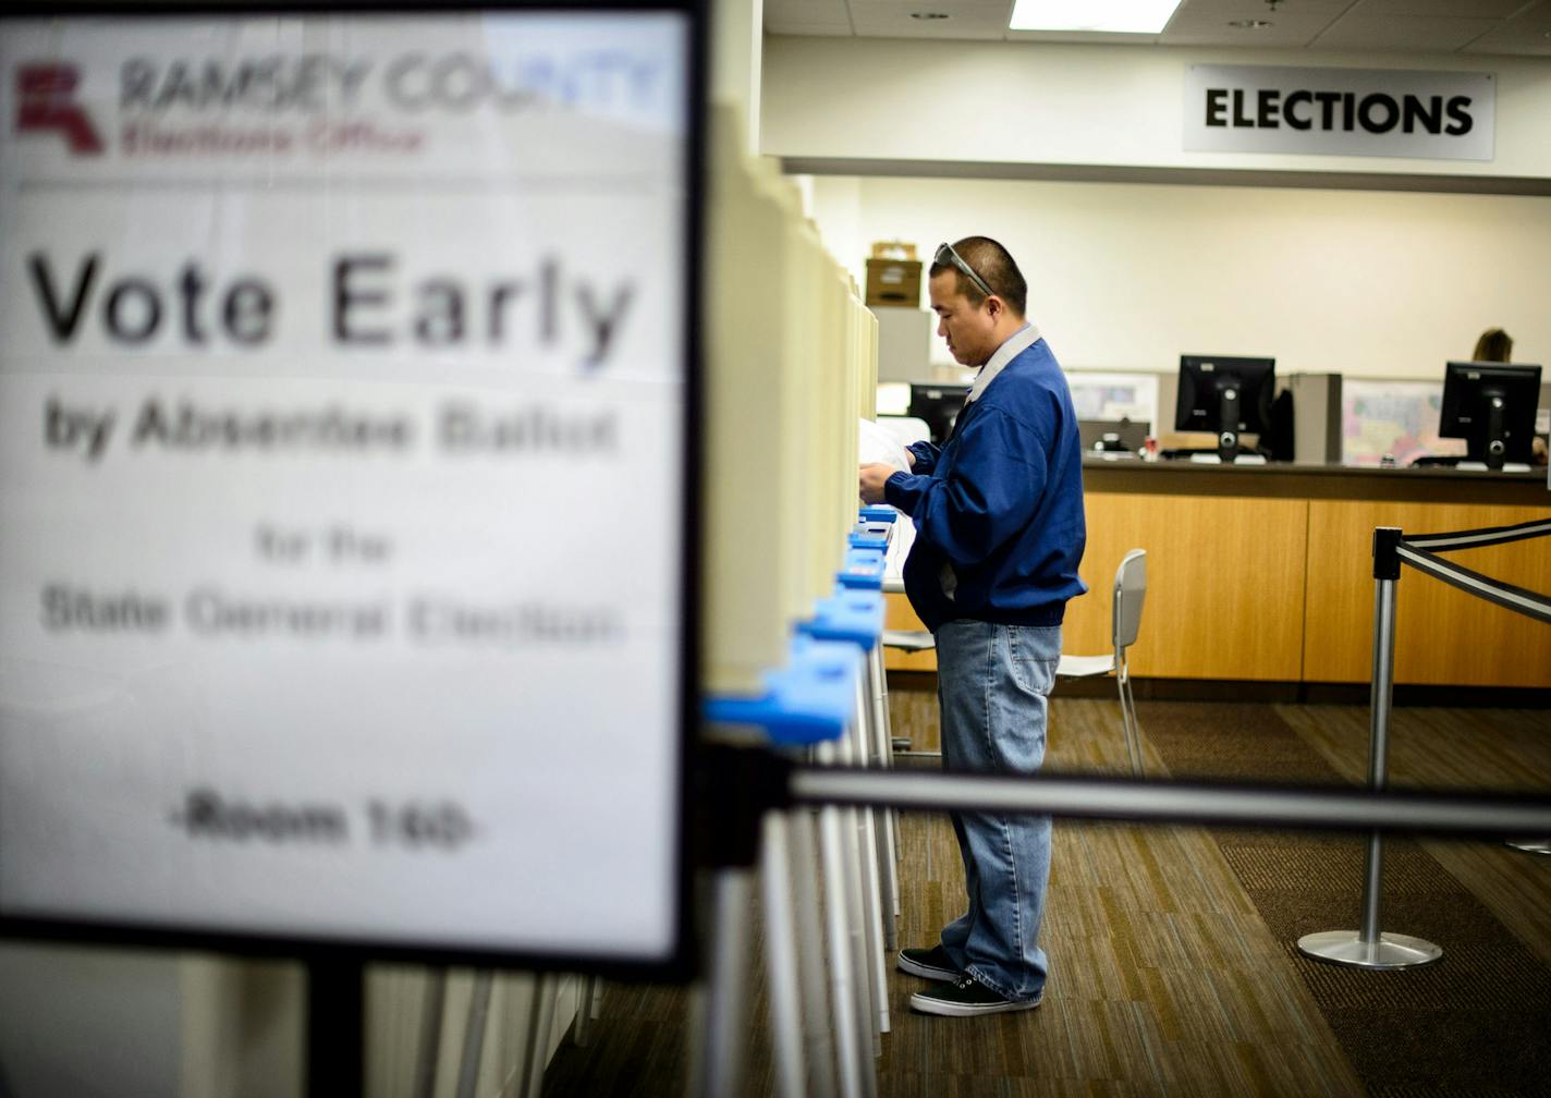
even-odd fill
[{"label": "off-white overhead wall band on which the ELECTIONS sign hangs", "polygon": [[[1185,152],[1193,64],[1495,73],[1497,155]],[[1546,57],[768,36],[763,118],[762,147],[779,157],[1551,177]]]}]

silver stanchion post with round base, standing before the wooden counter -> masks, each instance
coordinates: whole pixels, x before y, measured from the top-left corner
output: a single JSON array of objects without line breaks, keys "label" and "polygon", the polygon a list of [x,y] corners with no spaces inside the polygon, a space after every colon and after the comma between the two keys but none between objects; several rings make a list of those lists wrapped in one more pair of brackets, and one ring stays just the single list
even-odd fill
[{"label": "silver stanchion post with round base, standing before the wooden counter", "polygon": [[[1373,533],[1373,718],[1368,748],[1368,786],[1385,786],[1390,752],[1390,707],[1394,698],[1394,585],[1401,578],[1396,544],[1401,530],[1379,527]],[[1362,929],[1321,931],[1298,938],[1298,951],[1315,960],[1354,968],[1411,968],[1442,957],[1442,949],[1422,938],[1379,931],[1379,901],[1383,876],[1383,836],[1368,837],[1368,864],[1363,878]]]}]

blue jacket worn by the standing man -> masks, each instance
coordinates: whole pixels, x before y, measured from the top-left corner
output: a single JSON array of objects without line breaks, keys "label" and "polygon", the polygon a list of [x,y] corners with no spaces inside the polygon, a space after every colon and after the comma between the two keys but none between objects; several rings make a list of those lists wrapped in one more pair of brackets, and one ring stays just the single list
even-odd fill
[{"label": "blue jacket worn by the standing man", "polygon": [[910,450],[915,471],[890,476],[884,499],[915,521],[904,591],[926,628],[1058,625],[1087,591],[1087,526],[1076,411],[1050,346],[1013,358],[941,448]]}]

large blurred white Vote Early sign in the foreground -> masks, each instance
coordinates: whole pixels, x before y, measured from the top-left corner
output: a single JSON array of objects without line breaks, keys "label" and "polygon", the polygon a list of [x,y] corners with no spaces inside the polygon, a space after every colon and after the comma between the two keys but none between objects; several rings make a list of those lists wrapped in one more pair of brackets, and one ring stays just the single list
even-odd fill
[{"label": "large blurred white Vote Early sign in the foreground", "polygon": [[670,960],[689,17],[0,34],[0,917]]}]

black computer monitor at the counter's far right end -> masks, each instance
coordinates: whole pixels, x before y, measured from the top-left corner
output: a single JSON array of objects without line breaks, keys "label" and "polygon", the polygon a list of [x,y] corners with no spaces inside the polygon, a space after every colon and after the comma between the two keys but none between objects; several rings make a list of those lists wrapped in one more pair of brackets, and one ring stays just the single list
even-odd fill
[{"label": "black computer monitor at the counter's far right end", "polygon": [[1464,439],[1466,461],[1501,468],[1529,464],[1540,403],[1540,368],[1508,363],[1449,363],[1438,434]]}]

